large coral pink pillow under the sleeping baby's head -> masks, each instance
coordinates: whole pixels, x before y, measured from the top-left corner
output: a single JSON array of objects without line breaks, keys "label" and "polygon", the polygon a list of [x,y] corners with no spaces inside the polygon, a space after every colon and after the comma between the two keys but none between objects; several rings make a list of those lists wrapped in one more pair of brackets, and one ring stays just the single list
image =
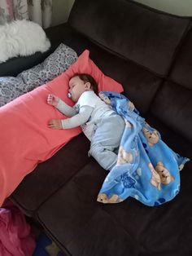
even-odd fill
[{"label": "large coral pink pillow under the sleeping baby's head", "polygon": [[74,73],[90,73],[99,90],[122,91],[122,86],[106,77],[89,60],[84,51],[76,63],[46,85],[21,95],[0,108],[0,206],[11,192],[41,161],[46,161],[81,129],[52,130],[47,127],[52,118],[66,118],[46,103],[48,94],[55,94],[72,105],[68,99],[68,81]]}]

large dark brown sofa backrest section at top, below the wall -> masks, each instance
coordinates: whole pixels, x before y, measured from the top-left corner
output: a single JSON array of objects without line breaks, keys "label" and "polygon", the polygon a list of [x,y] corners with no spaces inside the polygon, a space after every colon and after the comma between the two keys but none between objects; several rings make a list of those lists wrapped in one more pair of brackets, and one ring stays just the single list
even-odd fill
[{"label": "large dark brown sofa backrest section at top, below the wall", "polygon": [[116,55],[165,76],[190,20],[126,0],[76,0],[69,22]]}]

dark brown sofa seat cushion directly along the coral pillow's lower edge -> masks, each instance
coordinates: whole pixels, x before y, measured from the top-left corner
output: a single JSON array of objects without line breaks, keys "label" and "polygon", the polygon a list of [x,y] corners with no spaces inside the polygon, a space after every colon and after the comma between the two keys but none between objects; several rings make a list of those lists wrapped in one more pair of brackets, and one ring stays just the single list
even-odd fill
[{"label": "dark brown sofa seat cushion directly along the coral pillow's lower edge", "polygon": [[[15,192],[11,200],[31,216],[39,205],[48,200],[63,184],[68,183],[72,176],[89,161],[87,152],[89,140],[85,135],[78,135],[49,160],[38,165],[37,170],[28,174]],[[54,166],[50,169],[50,166]]]}]

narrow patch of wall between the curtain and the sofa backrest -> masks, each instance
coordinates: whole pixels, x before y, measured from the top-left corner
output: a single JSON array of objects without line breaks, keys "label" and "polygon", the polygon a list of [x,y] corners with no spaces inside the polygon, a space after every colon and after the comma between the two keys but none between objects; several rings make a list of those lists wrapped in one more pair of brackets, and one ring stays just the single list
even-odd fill
[{"label": "narrow patch of wall between the curtain and the sofa backrest", "polygon": [[51,26],[68,20],[69,12],[75,0],[53,0],[53,19]]}]

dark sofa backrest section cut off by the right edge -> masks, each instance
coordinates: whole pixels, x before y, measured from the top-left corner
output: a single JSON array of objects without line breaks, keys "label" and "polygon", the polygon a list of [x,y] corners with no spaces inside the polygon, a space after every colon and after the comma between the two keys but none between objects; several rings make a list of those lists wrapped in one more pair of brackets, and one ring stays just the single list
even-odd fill
[{"label": "dark sofa backrest section cut off by the right edge", "polygon": [[192,29],[151,104],[151,112],[192,142]]}]

